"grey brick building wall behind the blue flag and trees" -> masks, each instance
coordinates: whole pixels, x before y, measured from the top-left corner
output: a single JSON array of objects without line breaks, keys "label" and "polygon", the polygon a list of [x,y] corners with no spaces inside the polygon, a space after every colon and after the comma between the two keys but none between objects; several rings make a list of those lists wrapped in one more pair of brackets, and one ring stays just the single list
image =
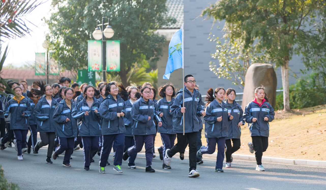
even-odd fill
[{"label": "grey brick building wall behind the blue flag and trees", "polygon": [[[218,65],[218,60],[211,57],[216,49],[216,43],[208,40],[209,33],[215,34],[216,37],[222,39],[223,32],[221,31],[224,26],[224,21],[216,22],[213,26],[213,19],[203,19],[199,17],[201,11],[209,6],[210,3],[215,3],[216,0],[184,0],[184,53],[185,53],[185,75],[192,74],[196,78],[202,95],[206,94],[209,88],[215,89],[222,86],[224,88],[234,88],[237,92],[243,92],[237,85],[232,84],[227,79],[217,78],[213,71],[209,70],[209,62],[215,62]],[[219,27],[219,29],[217,29]],[[182,70],[176,70],[171,73],[170,80],[163,80],[165,66],[168,55],[168,45],[165,44],[164,56],[158,62],[158,83],[159,85],[165,83],[173,83],[176,88],[181,88],[182,85]],[[290,84],[295,83],[297,77],[302,76],[300,69],[304,69],[303,62],[300,57],[293,56],[289,62],[290,67]],[[282,87],[281,70],[277,68],[277,89]]]}]

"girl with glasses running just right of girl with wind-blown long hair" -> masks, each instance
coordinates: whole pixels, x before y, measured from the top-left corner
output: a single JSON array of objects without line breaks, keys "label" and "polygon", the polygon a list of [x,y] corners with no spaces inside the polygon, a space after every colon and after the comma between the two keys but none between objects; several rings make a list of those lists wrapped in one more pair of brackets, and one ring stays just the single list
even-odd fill
[{"label": "girl with glasses running just right of girl with wind-blown long hair", "polygon": [[74,140],[77,136],[77,122],[71,114],[71,109],[75,107],[72,101],[73,89],[65,89],[65,99],[62,100],[54,110],[53,120],[56,122],[56,135],[59,140],[59,147],[53,153],[53,159],[65,151],[62,166],[71,167],[70,156],[74,148]]}]

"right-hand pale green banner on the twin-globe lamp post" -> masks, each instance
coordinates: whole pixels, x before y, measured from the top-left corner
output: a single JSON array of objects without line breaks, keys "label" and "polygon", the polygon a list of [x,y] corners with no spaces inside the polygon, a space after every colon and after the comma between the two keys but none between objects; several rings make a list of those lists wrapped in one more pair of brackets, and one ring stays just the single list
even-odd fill
[{"label": "right-hand pale green banner on the twin-globe lamp post", "polygon": [[120,40],[106,41],[106,71],[120,71]]}]

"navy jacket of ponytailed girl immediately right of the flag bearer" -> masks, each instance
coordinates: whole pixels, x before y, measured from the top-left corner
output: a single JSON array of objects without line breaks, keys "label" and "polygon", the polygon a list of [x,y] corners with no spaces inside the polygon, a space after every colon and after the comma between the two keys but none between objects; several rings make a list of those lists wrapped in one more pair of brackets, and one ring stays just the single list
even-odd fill
[{"label": "navy jacket of ponytailed girl immediately right of the flag bearer", "polygon": [[[206,108],[205,121],[205,137],[220,138],[229,136],[229,117],[226,103],[222,101],[223,108],[216,102],[216,99],[209,103]],[[217,121],[222,116],[222,121]]]}]

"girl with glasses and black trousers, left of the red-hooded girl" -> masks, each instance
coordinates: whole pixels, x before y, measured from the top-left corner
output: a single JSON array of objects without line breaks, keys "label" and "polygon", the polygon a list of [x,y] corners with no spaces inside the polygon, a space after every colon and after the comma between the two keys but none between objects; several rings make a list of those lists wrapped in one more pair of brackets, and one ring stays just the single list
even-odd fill
[{"label": "girl with glasses and black trousers, left of the red-hooded girl", "polygon": [[[241,126],[244,125],[244,119],[242,117],[243,111],[241,106],[234,100],[236,96],[235,90],[229,88],[226,90],[225,103],[230,114],[229,119],[229,136],[225,140],[225,157],[226,157],[226,168],[231,168],[232,154],[240,149],[241,142]],[[233,146],[231,145],[231,139]]]}]

